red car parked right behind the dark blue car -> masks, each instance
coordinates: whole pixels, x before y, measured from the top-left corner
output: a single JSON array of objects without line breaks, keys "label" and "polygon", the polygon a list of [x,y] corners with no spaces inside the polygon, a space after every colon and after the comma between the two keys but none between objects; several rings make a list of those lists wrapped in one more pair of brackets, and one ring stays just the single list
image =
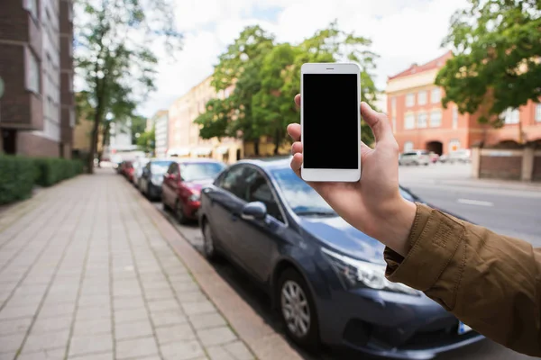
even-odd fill
[{"label": "red car parked right behind the dark blue car", "polygon": [[161,202],[166,210],[174,210],[180,223],[197,219],[203,186],[212,184],[225,164],[211,159],[179,159],[163,175]]}]

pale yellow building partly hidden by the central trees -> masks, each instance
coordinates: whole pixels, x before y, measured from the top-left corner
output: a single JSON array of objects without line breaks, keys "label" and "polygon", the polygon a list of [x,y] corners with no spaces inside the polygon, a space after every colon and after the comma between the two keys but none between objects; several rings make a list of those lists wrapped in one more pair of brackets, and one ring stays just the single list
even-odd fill
[{"label": "pale yellow building partly hidden by the central trees", "polygon": [[216,94],[208,76],[177,99],[169,109],[168,156],[212,157],[227,163],[243,157],[242,141],[238,139],[201,139],[200,125],[194,123],[205,112],[212,98],[225,98],[233,93],[233,86]]}]

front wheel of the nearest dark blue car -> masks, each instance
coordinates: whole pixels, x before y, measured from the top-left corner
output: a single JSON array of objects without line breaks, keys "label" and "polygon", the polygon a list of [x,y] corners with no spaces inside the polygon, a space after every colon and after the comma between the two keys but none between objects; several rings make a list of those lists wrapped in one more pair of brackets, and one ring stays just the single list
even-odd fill
[{"label": "front wheel of the nearest dark blue car", "polygon": [[280,275],[280,317],[289,338],[301,347],[316,350],[319,347],[319,329],[316,305],[305,280],[289,268]]}]

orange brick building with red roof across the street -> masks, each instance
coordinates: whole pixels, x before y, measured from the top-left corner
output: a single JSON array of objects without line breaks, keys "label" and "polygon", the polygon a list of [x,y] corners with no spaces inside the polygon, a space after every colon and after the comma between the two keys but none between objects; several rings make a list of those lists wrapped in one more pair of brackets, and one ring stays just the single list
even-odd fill
[{"label": "orange brick building with red roof across the street", "polygon": [[527,105],[502,114],[505,125],[493,129],[481,125],[479,114],[460,114],[450,103],[444,109],[444,90],[434,85],[437,72],[453,55],[449,51],[426,64],[414,64],[387,81],[387,113],[400,151],[427,149],[445,154],[459,148],[471,148],[483,142],[495,145],[504,141],[518,142],[519,122],[522,139],[541,140],[541,104]]}]

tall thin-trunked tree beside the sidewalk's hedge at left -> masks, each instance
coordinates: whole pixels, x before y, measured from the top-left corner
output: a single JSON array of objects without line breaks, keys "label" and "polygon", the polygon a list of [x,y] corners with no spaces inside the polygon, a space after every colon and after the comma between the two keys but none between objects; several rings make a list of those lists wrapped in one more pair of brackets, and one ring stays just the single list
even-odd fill
[{"label": "tall thin-trunked tree beside the sidewalk's hedge at left", "polygon": [[[154,88],[156,43],[180,48],[170,0],[80,0],[75,37],[76,69],[94,109],[88,168],[92,172],[98,130],[105,117],[131,118]],[[104,129],[109,123],[106,123]],[[105,137],[104,137],[105,139]]]}]

